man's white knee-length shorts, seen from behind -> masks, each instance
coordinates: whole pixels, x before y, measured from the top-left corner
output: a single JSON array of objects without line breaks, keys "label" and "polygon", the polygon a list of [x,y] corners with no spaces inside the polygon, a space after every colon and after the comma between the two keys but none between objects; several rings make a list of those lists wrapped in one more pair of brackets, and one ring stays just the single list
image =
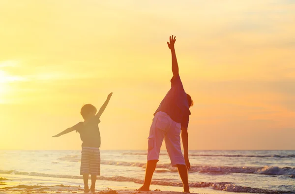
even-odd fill
[{"label": "man's white knee-length shorts, seen from behind", "polygon": [[148,161],[159,160],[160,149],[165,139],[166,149],[173,167],[185,165],[180,146],[181,125],[164,112],[157,112],[152,120],[148,136]]}]

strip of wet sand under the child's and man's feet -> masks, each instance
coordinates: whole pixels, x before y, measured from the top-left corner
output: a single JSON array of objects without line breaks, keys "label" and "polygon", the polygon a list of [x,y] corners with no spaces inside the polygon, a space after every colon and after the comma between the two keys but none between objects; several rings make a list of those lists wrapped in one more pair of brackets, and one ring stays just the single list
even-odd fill
[{"label": "strip of wet sand under the child's and man's feet", "polygon": [[[2,176],[2,177],[1,177]],[[24,175],[0,174],[0,194],[75,194],[84,193],[81,179],[54,179],[42,177],[28,177]],[[90,184],[90,182],[89,182]],[[184,194],[182,187],[151,185],[149,192],[136,191],[141,184],[116,181],[96,181],[96,194]],[[192,194],[224,194],[226,191],[214,190],[212,187],[190,188]],[[262,193],[260,192],[255,193]],[[266,191],[266,190],[265,190]],[[239,194],[247,194],[238,192]],[[263,192],[264,193],[264,192]],[[266,192],[269,193],[269,192]],[[90,192],[88,194],[91,194]],[[289,193],[290,194],[290,193]]]}]

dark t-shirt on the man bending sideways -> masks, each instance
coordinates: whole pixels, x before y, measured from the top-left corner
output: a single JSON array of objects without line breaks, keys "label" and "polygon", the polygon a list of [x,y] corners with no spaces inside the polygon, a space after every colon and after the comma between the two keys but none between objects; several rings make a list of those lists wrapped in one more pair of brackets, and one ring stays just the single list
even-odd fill
[{"label": "dark t-shirt on the man bending sideways", "polygon": [[173,121],[180,123],[181,128],[187,129],[191,113],[179,75],[172,77],[171,89],[162,100],[154,115],[160,111],[168,114]]}]

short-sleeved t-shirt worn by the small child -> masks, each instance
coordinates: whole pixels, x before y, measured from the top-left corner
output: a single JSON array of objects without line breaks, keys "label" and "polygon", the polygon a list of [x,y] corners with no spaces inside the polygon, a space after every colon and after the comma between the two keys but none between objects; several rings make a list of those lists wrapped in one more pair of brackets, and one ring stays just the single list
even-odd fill
[{"label": "short-sleeved t-shirt worn by the small child", "polygon": [[99,118],[93,117],[87,123],[80,122],[73,126],[73,129],[80,133],[80,138],[83,141],[82,147],[100,147],[99,123]]}]

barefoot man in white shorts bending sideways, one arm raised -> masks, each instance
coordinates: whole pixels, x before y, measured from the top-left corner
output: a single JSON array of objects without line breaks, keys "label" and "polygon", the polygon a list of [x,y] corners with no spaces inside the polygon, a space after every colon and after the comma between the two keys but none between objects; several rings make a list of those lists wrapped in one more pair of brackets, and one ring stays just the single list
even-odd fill
[{"label": "barefoot man in white shorts bending sideways, one arm raised", "polygon": [[[165,139],[166,149],[173,167],[177,167],[183,183],[183,192],[189,193],[188,174],[190,169],[188,160],[188,122],[189,107],[193,105],[191,97],[184,92],[181,83],[174,44],[176,37],[170,36],[167,42],[172,55],[171,89],[166,94],[158,109],[154,113],[148,136],[148,163],[144,185],[139,191],[149,191],[153,172],[159,161],[160,148]],[[184,157],[180,146],[180,132],[184,149]]]}]

